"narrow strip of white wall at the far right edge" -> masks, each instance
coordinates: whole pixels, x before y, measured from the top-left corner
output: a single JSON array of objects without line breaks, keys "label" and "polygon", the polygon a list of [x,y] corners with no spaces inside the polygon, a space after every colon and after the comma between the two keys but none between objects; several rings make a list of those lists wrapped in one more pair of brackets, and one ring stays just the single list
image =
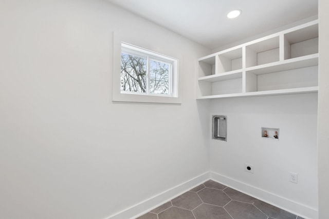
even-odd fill
[{"label": "narrow strip of white wall at the far right edge", "polygon": [[329,215],[329,2],[319,1],[319,112],[318,112],[318,161],[319,161],[319,218]]}]

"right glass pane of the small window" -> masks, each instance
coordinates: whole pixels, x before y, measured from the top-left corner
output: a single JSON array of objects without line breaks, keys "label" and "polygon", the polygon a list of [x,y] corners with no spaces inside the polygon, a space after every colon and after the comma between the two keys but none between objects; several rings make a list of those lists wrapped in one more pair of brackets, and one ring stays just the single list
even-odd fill
[{"label": "right glass pane of the small window", "polygon": [[150,61],[150,93],[169,94],[169,70],[169,64]]}]

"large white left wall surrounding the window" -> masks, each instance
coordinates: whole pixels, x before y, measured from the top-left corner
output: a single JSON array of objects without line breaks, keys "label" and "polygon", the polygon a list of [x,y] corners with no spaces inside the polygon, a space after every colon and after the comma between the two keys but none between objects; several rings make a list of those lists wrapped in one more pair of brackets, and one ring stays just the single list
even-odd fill
[{"label": "large white left wall surrounding the window", "polygon": [[[181,105],[111,101],[113,31],[180,58]],[[210,50],[101,0],[1,1],[0,32],[0,218],[106,218],[209,171]]]}]

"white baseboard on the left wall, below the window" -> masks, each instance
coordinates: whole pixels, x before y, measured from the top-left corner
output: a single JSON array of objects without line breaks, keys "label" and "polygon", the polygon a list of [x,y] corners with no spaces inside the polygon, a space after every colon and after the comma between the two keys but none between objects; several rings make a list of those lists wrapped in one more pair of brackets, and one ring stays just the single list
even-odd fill
[{"label": "white baseboard on the left wall, below the window", "polygon": [[121,212],[111,215],[106,219],[136,218],[162,204],[165,204],[166,202],[172,200],[174,197],[177,197],[178,195],[194,188],[195,186],[206,182],[207,180],[209,180],[209,178],[210,172],[206,172],[204,174],[196,176],[195,178],[192,178],[191,180],[188,180],[187,182],[181,183],[171,189],[168,189],[167,191],[161,192],[149,198],[148,200],[140,202]]}]

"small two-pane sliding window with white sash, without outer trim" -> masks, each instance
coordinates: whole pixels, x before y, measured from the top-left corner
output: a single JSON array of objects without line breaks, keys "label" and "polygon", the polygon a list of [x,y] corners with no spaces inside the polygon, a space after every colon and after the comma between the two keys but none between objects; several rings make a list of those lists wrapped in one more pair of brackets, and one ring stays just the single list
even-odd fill
[{"label": "small two-pane sliding window with white sash, without outer trim", "polygon": [[177,59],[121,43],[121,94],[177,97]]}]

